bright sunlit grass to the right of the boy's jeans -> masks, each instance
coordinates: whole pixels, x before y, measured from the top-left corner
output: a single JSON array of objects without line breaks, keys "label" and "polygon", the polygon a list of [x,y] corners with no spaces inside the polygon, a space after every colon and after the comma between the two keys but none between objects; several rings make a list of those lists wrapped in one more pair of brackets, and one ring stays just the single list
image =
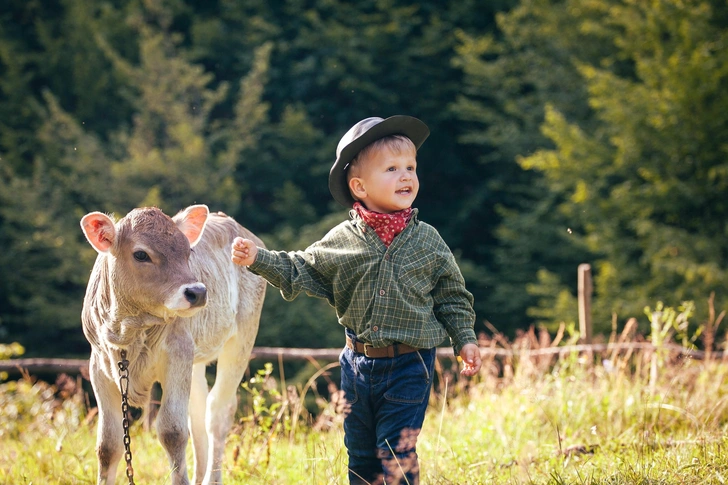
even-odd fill
[{"label": "bright sunlit grass to the right of the boy's jeans", "polygon": [[474,386],[441,434],[431,414],[428,483],[725,483],[725,364],[683,362],[655,394],[638,376],[562,364]]}]

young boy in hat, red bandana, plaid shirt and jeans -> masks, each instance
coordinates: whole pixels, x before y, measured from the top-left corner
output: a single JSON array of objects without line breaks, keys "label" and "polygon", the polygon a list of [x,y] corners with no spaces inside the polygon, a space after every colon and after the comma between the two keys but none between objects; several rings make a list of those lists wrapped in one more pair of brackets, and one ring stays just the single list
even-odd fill
[{"label": "young boy in hat, red bandana, plaid shirt and jeans", "polygon": [[352,484],[419,483],[415,449],[432,387],[435,347],[450,337],[475,375],[481,360],[472,295],[450,249],[417,218],[417,118],[367,118],[336,149],[329,190],[351,219],[305,251],[278,252],[236,238],[232,260],[292,300],[325,298],[344,326],[341,388]]}]

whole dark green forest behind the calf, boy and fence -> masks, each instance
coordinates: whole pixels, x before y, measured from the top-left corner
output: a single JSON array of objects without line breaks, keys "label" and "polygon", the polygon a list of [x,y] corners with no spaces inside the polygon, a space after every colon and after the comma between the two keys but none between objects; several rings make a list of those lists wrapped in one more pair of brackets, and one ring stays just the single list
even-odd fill
[{"label": "whole dark green forest behind the calf, boy and fence", "polygon": [[[4,0],[0,342],[88,355],[91,211],[205,203],[305,248],[347,217],[338,140],[394,114],[431,129],[416,206],[478,331],[573,325],[580,263],[597,333],[700,323],[728,309],[726,27],[724,0]],[[270,288],[257,345],[342,333]]]}]

